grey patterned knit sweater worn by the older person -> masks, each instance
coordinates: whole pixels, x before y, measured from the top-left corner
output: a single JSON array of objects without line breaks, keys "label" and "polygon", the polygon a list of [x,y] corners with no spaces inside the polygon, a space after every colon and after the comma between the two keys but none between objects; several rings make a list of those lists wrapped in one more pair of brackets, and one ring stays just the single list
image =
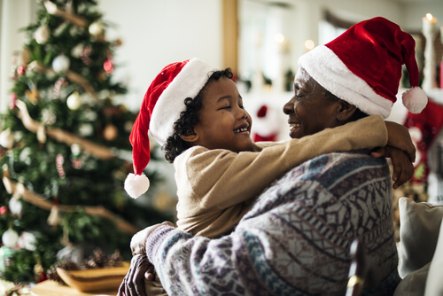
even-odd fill
[{"label": "grey patterned knit sweater worn by the older person", "polygon": [[392,295],[400,277],[391,186],[386,161],[368,151],[324,154],[271,184],[229,236],[163,226],[147,256],[170,296],[343,295],[360,237],[383,279],[375,294]]}]

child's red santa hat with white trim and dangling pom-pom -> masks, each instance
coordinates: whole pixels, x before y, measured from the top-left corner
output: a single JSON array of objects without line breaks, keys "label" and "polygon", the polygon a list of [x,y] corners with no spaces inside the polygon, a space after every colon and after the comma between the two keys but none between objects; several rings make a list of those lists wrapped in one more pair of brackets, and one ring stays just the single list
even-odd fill
[{"label": "child's red santa hat with white trim and dangling pom-pom", "polygon": [[148,130],[160,145],[165,144],[174,134],[175,121],[186,110],[185,98],[197,97],[216,70],[214,66],[192,58],[165,66],[152,81],[129,136],[134,174],[126,178],[125,190],[131,198],[136,199],[149,188],[149,180],[143,174],[151,160]]}]

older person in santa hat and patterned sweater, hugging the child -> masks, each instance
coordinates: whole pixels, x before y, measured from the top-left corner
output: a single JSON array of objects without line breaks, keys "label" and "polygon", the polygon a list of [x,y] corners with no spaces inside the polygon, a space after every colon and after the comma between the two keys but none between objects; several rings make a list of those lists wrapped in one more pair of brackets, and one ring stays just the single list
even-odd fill
[{"label": "older person in santa hat and patterned sweater, hugging the child", "polygon": [[[291,137],[367,114],[386,117],[401,64],[416,87],[414,41],[382,18],[363,21],[308,52],[299,59],[294,97],[284,105]],[[425,95],[414,88],[404,104],[420,112]],[[147,259],[169,295],[344,294],[349,248],[360,238],[380,279],[368,292],[392,294],[400,277],[391,184],[385,159],[370,157],[369,151],[309,160],[263,191],[229,236],[194,238],[167,223],[148,229],[144,253],[134,257],[120,293],[144,295],[137,281]]]}]

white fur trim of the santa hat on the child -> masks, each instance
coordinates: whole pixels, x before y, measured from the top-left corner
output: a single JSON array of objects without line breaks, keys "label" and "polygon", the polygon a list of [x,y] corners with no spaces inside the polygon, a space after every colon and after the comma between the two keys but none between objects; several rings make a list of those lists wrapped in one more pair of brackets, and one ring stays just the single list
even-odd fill
[{"label": "white fur trim of the santa hat on the child", "polygon": [[162,92],[152,111],[150,132],[160,145],[174,134],[174,122],[186,110],[184,99],[194,98],[206,85],[207,80],[218,69],[199,58],[192,58],[183,66],[167,89]]}]

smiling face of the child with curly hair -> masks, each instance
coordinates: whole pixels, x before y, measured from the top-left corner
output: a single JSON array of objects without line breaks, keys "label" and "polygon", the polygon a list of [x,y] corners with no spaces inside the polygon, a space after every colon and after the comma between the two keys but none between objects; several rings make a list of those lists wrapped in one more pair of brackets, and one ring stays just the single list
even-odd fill
[{"label": "smiling face of the child with curly hair", "polygon": [[252,120],[243,107],[236,84],[226,77],[209,82],[194,127],[194,144],[232,152],[251,151]]}]

